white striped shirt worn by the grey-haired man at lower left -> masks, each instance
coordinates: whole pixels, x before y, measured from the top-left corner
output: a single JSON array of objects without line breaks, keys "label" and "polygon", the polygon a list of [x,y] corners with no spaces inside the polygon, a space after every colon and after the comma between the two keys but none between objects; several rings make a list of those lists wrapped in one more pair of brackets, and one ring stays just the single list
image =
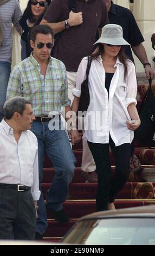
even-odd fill
[{"label": "white striped shirt worn by the grey-haired man at lower left", "polygon": [[14,130],[3,119],[0,123],[0,183],[31,187],[34,200],[38,189],[37,138],[33,132],[22,131],[18,143]]}]

